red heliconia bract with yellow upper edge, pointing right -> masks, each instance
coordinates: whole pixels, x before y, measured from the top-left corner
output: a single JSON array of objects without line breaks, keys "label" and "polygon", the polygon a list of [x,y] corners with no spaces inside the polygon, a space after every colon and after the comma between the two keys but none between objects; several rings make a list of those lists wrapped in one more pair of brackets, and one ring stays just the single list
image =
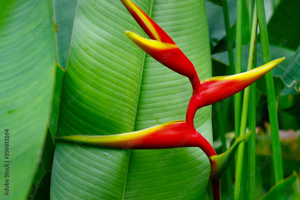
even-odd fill
[{"label": "red heliconia bract with yellow upper edge, pointing right", "polygon": [[187,106],[187,123],[193,126],[194,116],[199,108],[217,103],[247,88],[280,64],[284,59],[285,57],[278,58],[244,73],[231,76],[217,76],[202,80],[199,90],[193,93]]}]

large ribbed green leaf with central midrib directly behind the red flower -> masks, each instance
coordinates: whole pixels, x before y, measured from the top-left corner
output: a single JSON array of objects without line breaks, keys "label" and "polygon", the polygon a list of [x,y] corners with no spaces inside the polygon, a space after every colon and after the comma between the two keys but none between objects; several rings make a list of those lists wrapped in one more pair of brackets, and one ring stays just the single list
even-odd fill
[{"label": "large ribbed green leaf with central midrib directly behind the red flower", "polygon": [[[203,0],[134,3],[170,34],[200,79],[211,76]],[[125,133],[185,118],[189,80],[145,55],[125,30],[145,37],[120,1],[79,1],[58,136]],[[210,109],[197,112],[195,127],[212,142]],[[57,142],[51,198],[203,199],[208,175],[199,148],[126,151]]]}]

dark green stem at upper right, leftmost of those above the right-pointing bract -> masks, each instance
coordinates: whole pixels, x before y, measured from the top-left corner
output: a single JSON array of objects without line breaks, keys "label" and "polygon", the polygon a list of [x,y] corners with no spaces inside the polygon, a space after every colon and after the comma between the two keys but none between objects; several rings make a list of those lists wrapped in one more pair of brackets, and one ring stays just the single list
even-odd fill
[{"label": "dark green stem at upper right, leftmost of those above the right-pointing bract", "polygon": [[232,75],[235,74],[235,69],[234,69],[234,58],[233,58],[232,33],[230,28],[227,0],[225,0],[223,4],[223,15],[224,15],[224,22],[225,22],[225,30],[226,30],[226,42],[227,42],[227,51],[229,57],[230,75]]}]

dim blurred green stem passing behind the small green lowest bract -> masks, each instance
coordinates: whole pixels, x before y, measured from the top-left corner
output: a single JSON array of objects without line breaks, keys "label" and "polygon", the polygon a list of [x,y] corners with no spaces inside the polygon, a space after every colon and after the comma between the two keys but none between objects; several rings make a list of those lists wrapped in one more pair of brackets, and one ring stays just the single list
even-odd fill
[{"label": "dim blurred green stem passing behind the small green lowest bract", "polygon": [[[225,152],[227,150],[227,147],[226,147],[225,130],[224,130],[224,124],[223,124],[221,110],[218,111],[217,117],[218,117],[218,123],[220,126],[220,138],[221,138],[221,142],[222,142],[222,149],[223,149],[223,152]],[[233,190],[232,190],[232,175],[231,175],[229,168],[226,171],[226,181],[227,181],[228,192],[229,192],[229,194],[232,194],[232,192],[233,192]]]}]

